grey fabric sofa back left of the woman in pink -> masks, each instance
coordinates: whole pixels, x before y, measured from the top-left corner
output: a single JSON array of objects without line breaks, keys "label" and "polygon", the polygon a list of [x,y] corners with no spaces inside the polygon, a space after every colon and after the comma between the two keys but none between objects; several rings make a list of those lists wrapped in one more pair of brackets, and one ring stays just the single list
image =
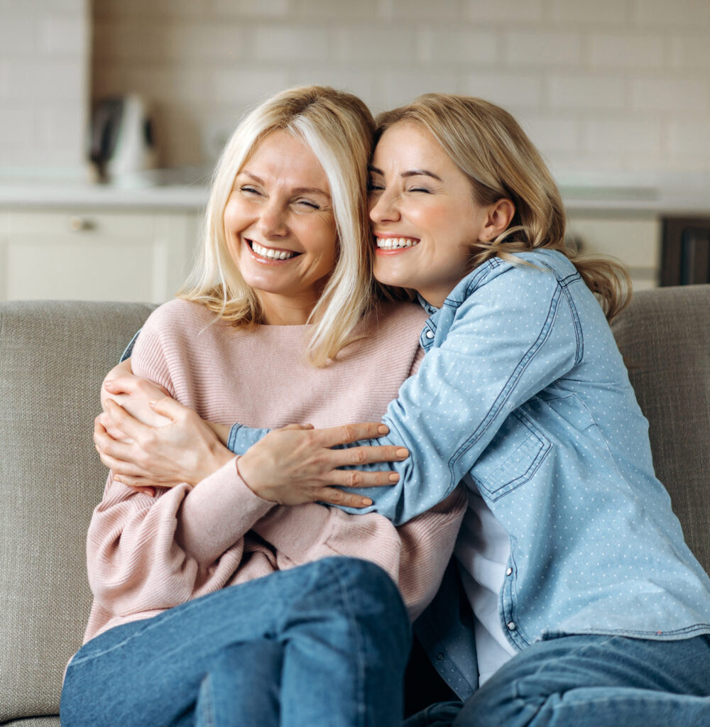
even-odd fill
[{"label": "grey fabric sofa back left of the woman in pink", "polygon": [[0,304],[0,723],[56,715],[91,594],[102,377],[154,306]]}]

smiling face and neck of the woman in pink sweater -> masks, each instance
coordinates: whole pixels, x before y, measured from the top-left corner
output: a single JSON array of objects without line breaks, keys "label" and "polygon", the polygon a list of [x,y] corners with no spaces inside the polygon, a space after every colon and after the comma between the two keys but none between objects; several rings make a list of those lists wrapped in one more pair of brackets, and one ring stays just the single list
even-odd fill
[{"label": "smiling face and neck of the woman in pink sweater", "polygon": [[304,323],[334,268],[337,237],[328,177],[305,142],[268,134],[235,177],[224,222],[266,323]]}]

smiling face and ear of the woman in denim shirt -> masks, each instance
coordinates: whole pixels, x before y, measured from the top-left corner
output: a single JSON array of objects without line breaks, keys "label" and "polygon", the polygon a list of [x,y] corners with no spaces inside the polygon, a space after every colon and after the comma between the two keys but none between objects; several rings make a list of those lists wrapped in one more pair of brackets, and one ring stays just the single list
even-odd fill
[{"label": "smiling face and ear of the woman in denim shirt", "polygon": [[500,206],[477,204],[466,175],[435,137],[398,121],[382,134],[371,164],[375,277],[440,307],[470,272],[473,245],[507,227]]}]

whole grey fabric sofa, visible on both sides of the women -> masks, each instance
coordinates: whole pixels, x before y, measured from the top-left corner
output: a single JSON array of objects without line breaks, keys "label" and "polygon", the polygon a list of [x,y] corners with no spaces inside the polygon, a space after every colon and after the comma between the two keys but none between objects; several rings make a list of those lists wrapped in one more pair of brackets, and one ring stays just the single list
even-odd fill
[{"label": "whole grey fabric sofa, visible on both sides of the women", "polygon": [[[101,379],[151,305],[0,304],[0,724],[59,724],[62,672],[91,596],[84,537],[105,468]],[[710,569],[710,286],[640,292],[614,332],[658,476]]]}]

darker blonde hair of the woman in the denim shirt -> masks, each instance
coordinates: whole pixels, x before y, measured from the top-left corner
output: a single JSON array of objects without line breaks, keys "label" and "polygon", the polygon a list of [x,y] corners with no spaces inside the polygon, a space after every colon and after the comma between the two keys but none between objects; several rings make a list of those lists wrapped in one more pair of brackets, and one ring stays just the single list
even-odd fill
[{"label": "darker blonde hair of the woman in the denim shirt", "polygon": [[424,94],[411,104],[381,113],[375,139],[398,121],[424,126],[471,182],[475,200],[487,206],[503,198],[515,205],[511,224],[490,242],[472,249],[472,268],[536,248],[559,250],[597,295],[609,320],[629,302],[631,282],[624,267],[601,257],[578,259],[565,245],[565,209],[557,185],[520,124],[504,109],[479,98]]}]

